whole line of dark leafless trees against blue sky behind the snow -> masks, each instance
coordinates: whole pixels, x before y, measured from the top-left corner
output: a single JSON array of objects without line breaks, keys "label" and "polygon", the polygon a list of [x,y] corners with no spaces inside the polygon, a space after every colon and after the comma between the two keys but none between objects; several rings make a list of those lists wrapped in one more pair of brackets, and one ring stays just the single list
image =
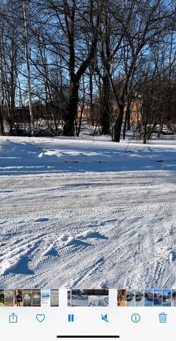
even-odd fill
[{"label": "whole line of dark leafless trees against blue sky behind the snow", "polygon": [[0,134],[79,136],[85,104],[116,142],[132,112],[144,143],[175,133],[174,0],[0,0]]}]

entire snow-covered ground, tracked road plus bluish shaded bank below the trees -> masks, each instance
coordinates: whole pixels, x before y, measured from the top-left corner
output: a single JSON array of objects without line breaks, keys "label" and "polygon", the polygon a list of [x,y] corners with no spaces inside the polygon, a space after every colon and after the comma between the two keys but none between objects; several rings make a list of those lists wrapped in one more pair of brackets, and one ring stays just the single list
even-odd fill
[{"label": "entire snow-covered ground, tracked road plus bluish shaded bank below the trees", "polygon": [[1,287],[176,286],[176,141],[9,140]]}]

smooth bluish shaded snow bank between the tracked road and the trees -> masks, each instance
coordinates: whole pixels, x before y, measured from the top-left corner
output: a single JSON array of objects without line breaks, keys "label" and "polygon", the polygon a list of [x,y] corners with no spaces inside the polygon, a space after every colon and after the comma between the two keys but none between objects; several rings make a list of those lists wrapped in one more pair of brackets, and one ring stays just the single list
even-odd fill
[{"label": "smooth bluish shaded snow bank between the tracked road and the trees", "polygon": [[[51,171],[176,170],[176,143],[145,146],[132,142],[33,138],[32,143],[0,139],[0,173]],[[42,142],[40,142],[42,141]],[[80,143],[81,142],[81,143]],[[39,147],[40,146],[40,147]]]}]

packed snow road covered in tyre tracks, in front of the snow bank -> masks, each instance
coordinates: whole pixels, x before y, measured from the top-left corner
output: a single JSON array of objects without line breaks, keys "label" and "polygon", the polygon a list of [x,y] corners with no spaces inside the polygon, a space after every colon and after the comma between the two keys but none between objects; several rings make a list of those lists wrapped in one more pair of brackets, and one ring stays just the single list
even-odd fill
[{"label": "packed snow road covered in tyre tracks, in front of the snow bank", "polygon": [[176,286],[175,172],[1,175],[0,287]]}]

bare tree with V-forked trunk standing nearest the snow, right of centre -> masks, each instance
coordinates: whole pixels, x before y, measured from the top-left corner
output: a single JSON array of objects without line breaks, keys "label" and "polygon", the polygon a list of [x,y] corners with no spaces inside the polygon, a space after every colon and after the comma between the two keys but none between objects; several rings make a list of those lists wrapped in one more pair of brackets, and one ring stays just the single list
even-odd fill
[{"label": "bare tree with V-forked trunk standing nearest the snow, right of centre", "polygon": [[[173,15],[174,9],[172,5],[168,3],[166,6],[161,0],[148,1],[148,3],[145,3],[145,6],[142,0],[124,2],[114,12],[117,22],[121,24],[121,36],[113,52],[113,57],[121,49],[123,37],[125,37],[130,47],[130,54],[128,54],[127,60],[128,65],[119,94],[117,93],[113,76],[107,66],[105,56],[102,56],[118,108],[118,116],[114,126],[114,141],[116,142],[120,141],[124,108],[132,90],[129,84],[131,84],[134,77],[137,63],[139,63],[139,59],[141,59],[143,54],[147,53],[150,44],[155,44],[155,37],[158,40],[160,35],[163,37],[165,31],[168,32],[168,29],[172,27],[173,23],[170,24],[168,19],[172,19]],[[104,34],[101,35],[101,39],[103,36]]]}]

